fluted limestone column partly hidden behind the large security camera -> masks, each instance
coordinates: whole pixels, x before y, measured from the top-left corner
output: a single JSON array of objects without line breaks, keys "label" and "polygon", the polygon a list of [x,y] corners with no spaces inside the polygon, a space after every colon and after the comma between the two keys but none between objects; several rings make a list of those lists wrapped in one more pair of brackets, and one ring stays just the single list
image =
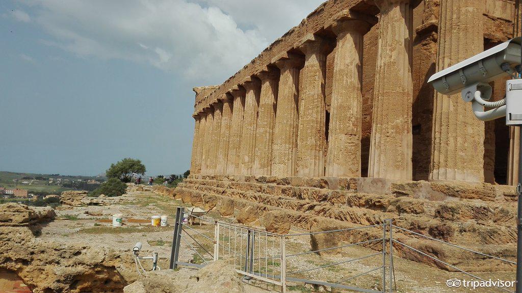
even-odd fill
[{"label": "fluted limestone column partly hidden behind the large security camera", "polygon": [[[441,0],[437,71],[483,51],[483,8],[483,0]],[[460,94],[435,92],[432,136],[430,180],[484,180],[484,123]]]}]

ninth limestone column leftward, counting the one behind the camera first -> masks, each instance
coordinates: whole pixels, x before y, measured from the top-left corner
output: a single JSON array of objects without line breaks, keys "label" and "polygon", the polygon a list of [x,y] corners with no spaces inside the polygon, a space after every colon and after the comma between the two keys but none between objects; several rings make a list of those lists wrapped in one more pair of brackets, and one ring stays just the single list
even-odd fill
[{"label": "ninth limestone column leftward, counting the one behind the camera first", "polygon": [[227,173],[227,159],[230,141],[230,123],[232,120],[233,97],[230,94],[223,94],[221,102],[223,109],[221,112],[221,129],[219,134],[219,146],[217,153],[216,174]]}]

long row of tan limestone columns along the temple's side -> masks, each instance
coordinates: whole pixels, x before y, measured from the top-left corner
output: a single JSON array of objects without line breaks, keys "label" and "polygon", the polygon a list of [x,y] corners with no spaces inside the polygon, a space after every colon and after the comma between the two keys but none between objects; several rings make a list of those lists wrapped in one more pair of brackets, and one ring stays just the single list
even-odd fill
[{"label": "long row of tan limestone columns along the temple's side", "polygon": [[[475,26],[482,23],[482,2],[441,1],[437,70],[482,51],[462,46],[482,43]],[[368,176],[411,179],[412,7],[409,0],[375,4],[381,14]],[[192,172],[360,177],[363,35],[375,23],[373,16],[345,10],[325,24],[337,35],[328,141],[330,42],[310,34],[295,46],[302,55],[282,53],[195,116]],[[453,30],[457,24],[467,28]],[[430,178],[483,180],[483,127],[460,97],[436,94]],[[472,160],[468,148],[476,154]]]}]

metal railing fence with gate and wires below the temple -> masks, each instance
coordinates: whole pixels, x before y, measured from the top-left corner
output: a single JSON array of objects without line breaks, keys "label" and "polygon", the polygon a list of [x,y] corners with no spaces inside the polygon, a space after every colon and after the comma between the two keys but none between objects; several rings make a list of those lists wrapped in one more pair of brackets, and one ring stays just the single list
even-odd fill
[{"label": "metal railing fence with gate and wires below the temple", "polygon": [[[198,221],[204,223],[204,227],[207,227],[203,229],[204,231],[201,231],[191,227],[191,225],[187,223],[183,223],[183,218],[187,216],[195,217]],[[382,230],[382,234],[375,236],[378,234],[376,234],[374,230],[373,234],[368,233],[367,235],[374,235],[375,237],[358,242],[348,242],[347,239],[350,239],[350,237],[343,238],[343,236],[350,236],[351,233],[365,229],[380,229]],[[244,276],[244,279],[256,279],[268,284],[280,286],[281,292],[286,292],[287,283],[292,282],[367,293],[392,293],[394,290],[397,290],[394,250],[398,251],[400,246],[402,251],[404,251],[404,249],[411,250],[415,253],[419,253],[423,257],[453,268],[456,272],[485,282],[484,278],[466,272],[456,265],[441,260],[435,257],[433,253],[423,252],[420,249],[414,248],[412,245],[408,245],[408,243],[399,241],[398,238],[394,238],[394,230],[395,233],[400,232],[404,235],[436,241],[442,245],[447,245],[467,253],[480,255],[482,258],[490,258],[508,265],[515,264],[515,262],[511,260],[461,247],[396,226],[393,224],[392,219],[386,219],[384,223],[378,225],[280,235],[251,227],[194,216],[185,213],[183,207],[178,207],[174,225],[170,267],[175,268],[177,265],[203,267],[211,261],[222,260],[233,266],[236,272]],[[342,242],[337,241],[339,245],[333,247],[302,249],[303,247],[307,247],[303,246],[303,238],[306,238],[305,236],[322,237],[325,235],[342,239]],[[194,252],[192,261],[179,260],[181,243],[184,243],[188,249]],[[363,253],[363,255],[361,255],[362,252],[359,250],[352,252],[347,252],[346,250],[363,246],[370,247],[376,252]],[[337,260],[331,261],[328,256],[323,256],[324,253],[335,253],[343,249],[345,255],[353,253],[353,257],[347,255],[344,260],[339,261],[337,258]],[[366,263],[370,262],[373,265],[362,265],[360,263],[362,260],[366,260]],[[350,265],[355,265],[356,263],[360,264],[359,268],[365,267],[366,270],[355,272],[350,276],[342,275],[337,279],[334,279],[333,274],[329,274],[330,271],[335,270],[347,270],[351,272],[353,271],[353,267],[350,267]],[[379,273],[379,271],[381,271],[381,273]],[[317,277],[321,275],[326,275],[326,277]],[[365,288],[364,286],[352,284],[353,280],[364,276],[380,278],[380,288]],[[513,292],[500,286],[493,286],[493,288],[500,291]]]}]

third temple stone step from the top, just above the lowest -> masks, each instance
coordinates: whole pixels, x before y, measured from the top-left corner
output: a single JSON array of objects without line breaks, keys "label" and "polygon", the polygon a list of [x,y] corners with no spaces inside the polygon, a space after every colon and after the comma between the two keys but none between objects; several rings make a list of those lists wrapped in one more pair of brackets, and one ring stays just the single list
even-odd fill
[{"label": "third temple stone step from the top, just above the lowest", "polygon": [[[515,226],[504,222],[497,224],[492,221],[483,221],[482,223],[474,220],[448,221],[419,213],[419,209],[414,213],[400,212],[397,209],[379,212],[365,209],[364,207],[353,207],[343,204],[332,205],[327,202],[300,200],[233,188],[214,187],[212,185],[215,182],[211,182],[212,180],[204,180],[205,182],[200,182],[200,184],[188,183],[189,181],[187,180],[187,183],[180,184],[180,188],[277,206],[282,209],[309,213],[359,225],[377,225],[382,224],[385,219],[394,219],[394,223],[400,227],[452,243],[480,243],[483,245],[516,243]],[[410,198],[407,198],[407,200],[410,200]]]}]

